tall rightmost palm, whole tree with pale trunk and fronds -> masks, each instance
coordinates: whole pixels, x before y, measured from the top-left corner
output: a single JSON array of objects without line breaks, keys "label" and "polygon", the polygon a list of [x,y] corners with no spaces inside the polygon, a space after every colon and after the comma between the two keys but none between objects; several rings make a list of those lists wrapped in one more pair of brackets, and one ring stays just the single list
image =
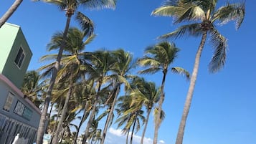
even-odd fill
[{"label": "tall rightmost palm, whole tree with pale trunk and fronds", "polygon": [[189,115],[189,108],[191,105],[194,87],[196,85],[200,57],[204,44],[207,40],[207,36],[210,36],[214,47],[212,61],[209,63],[209,71],[217,72],[225,64],[227,39],[217,31],[214,23],[219,21],[220,24],[227,24],[229,21],[237,20],[236,29],[239,29],[245,17],[245,3],[227,3],[227,5],[221,6],[219,9],[217,9],[217,0],[174,0],[171,2],[169,1],[165,5],[154,10],[152,14],[156,16],[174,16],[176,18],[175,24],[179,24],[184,21],[194,22],[185,24],[176,29],[174,32],[164,34],[161,36],[161,38],[179,38],[186,34],[194,37],[202,36],[196,52],[189,90],[186,95],[184,112],[181,117],[179,132],[176,138],[176,144],[181,144],[184,136],[186,118]]}]

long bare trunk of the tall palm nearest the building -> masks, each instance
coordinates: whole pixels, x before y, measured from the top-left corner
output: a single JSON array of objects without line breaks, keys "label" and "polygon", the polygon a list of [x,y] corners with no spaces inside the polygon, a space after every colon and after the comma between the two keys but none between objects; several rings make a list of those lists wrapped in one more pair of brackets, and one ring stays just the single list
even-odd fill
[{"label": "long bare trunk of the tall palm nearest the building", "polygon": [[48,111],[48,107],[49,107],[49,102],[51,101],[52,90],[53,90],[53,86],[54,86],[54,83],[55,83],[55,80],[56,80],[56,77],[57,77],[57,72],[60,70],[60,60],[62,58],[62,52],[63,52],[63,49],[64,49],[65,44],[66,44],[67,31],[70,27],[71,16],[72,15],[67,16],[65,31],[63,33],[62,44],[60,45],[60,49],[59,49],[59,52],[58,52],[58,55],[57,55],[56,63],[55,63],[55,66],[54,66],[54,69],[53,69],[53,72],[52,72],[52,78],[49,82],[49,88],[48,88],[47,95],[46,95],[45,100],[44,100],[44,109],[42,111],[38,131],[37,131],[37,144],[42,144],[42,140],[43,140],[43,136],[44,136],[44,128],[45,128],[45,123],[46,123],[46,119],[47,119],[47,111]]}]

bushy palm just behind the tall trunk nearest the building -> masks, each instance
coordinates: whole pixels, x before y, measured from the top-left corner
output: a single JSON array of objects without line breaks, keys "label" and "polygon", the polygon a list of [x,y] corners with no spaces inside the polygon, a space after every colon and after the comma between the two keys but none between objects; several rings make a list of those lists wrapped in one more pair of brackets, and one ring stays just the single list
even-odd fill
[{"label": "bushy palm just behind the tall trunk nearest the building", "polygon": [[[65,88],[67,92],[67,97],[65,99],[65,104],[62,109],[62,114],[60,117],[60,121],[57,126],[57,130],[55,133],[60,133],[60,128],[62,126],[62,122],[65,119],[65,114],[67,112],[67,106],[68,102],[70,100],[70,97],[72,95],[72,90],[74,89],[75,81],[78,77],[80,77],[80,67],[82,67],[83,61],[81,59],[82,55],[85,55],[85,53],[82,52],[83,49],[85,49],[85,45],[92,42],[95,35],[91,35],[88,37],[85,42],[83,42],[83,39],[86,37],[86,33],[81,32],[77,28],[70,28],[67,34],[67,42],[65,47],[65,52],[68,52],[70,54],[64,54],[62,58],[62,68],[58,72],[57,78],[59,82],[65,82],[65,80],[68,80],[70,84],[67,86],[68,88]],[[62,33],[57,33],[54,35],[55,37],[52,38],[52,43],[49,44],[49,49],[56,49],[57,47],[60,47],[60,44],[62,42]],[[55,58],[57,54],[50,54],[47,56],[42,57],[42,59],[52,59]],[[52,67],[52,64],[49,64],[47,66],[42,67],[42,69]],[[67,78],[67,79],[66,79]],[[63,81],[64,80],[64,81]],[[54,135],[53,143],[57,144],[59,135]]]}]

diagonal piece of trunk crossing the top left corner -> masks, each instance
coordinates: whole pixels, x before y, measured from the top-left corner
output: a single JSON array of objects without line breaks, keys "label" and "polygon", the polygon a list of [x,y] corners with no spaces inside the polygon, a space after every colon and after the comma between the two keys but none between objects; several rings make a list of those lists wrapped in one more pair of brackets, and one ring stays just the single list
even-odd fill
[{"label": "diagonal piece of trunk crossing the top left corner", "polygon": [[16,0],[14,1],[14,4],[11,5],[11,7],[6,11],[6,13],[1,17],[0,19],[0,28],[4,25],[4,23],[11,17],[12,14],[14,14],[14,11],[19,7],[20,4],[22,4],[23,0]]}]

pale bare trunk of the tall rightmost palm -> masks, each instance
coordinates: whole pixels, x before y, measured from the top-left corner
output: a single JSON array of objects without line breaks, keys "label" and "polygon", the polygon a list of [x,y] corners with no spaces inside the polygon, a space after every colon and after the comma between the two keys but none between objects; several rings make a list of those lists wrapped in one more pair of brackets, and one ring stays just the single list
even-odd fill
[{"label": "pale bare trunk of the tall rightmost palm", "polygon": [[190,84],[189,84],[189,91],[186,95],[186,102],[184,105],[181,122],[179,124],[179,131],[178,131],[178,135],[176,138],[176,144],[182,144],[182,141],[183,141],[184,130],[185,130],[185,126],[186,126],[186,118],[189,115],[189,108],[190,108],[192,97],[193,97],[194,87],[196,85],[196,77],[197,77],[197,73],[198,73],[198,69],[199,69],[200,57],[201,57],[202,50],[204,48],[206,39],[207,39],[207,32],[204,32],[204,34],[202,36],[202,40],[199,45],[199,49],[196,52],[196,59],[194,62],[194,68],[193,68],[193,72],[192,72],[191,80],[190,80]]}]

